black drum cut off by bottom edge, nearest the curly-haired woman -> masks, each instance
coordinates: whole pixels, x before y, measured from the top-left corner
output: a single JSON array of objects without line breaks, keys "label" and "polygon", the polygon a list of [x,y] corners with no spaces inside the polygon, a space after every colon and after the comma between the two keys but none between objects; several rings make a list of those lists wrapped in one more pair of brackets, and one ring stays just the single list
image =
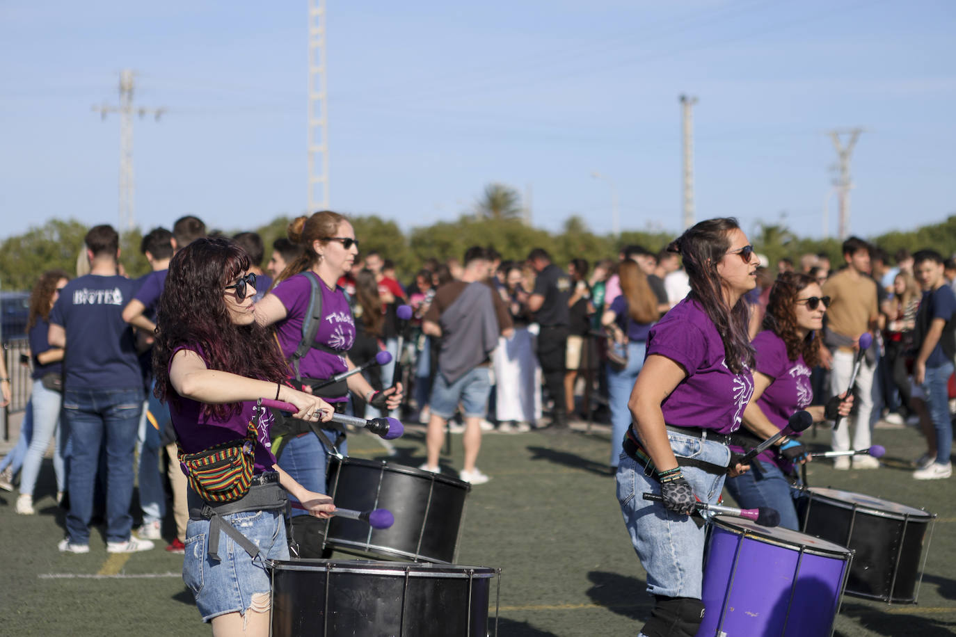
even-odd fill
[{"label": "black drum cut off by bottom edge, nearest the curly-haired woman", "polygon": [[486,637],[492,578],[483,566],[334,560],[272,565],[272,635]]}]

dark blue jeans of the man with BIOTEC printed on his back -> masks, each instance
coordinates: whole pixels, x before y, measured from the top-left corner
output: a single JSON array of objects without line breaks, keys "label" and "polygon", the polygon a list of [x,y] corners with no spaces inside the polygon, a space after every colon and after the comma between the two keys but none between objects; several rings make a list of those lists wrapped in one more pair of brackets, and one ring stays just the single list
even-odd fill
[{"label": "dark blue jeans of the man with BIOTEC printed on his back", "polygon": [[133,517],[133,457],[142,411],[141,388],[128,390],[67,390],[63,421],[70,429],[70,542],[88,544],[99,445],[105,437],[106,541],[129,540]]}]

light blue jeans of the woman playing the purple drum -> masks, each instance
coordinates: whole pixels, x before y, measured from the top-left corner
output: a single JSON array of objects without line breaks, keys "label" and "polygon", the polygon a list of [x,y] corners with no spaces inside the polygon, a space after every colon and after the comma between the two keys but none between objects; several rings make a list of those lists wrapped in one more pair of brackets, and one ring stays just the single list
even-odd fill
[{"label": "light blue jeans of the woman playing the purple drum", "polygon": [[[727,446],[711,440],[667,432],[671,449],[678,457],[693,457],[726,467]],[[708,474],[696,467],[683,467],[684,478],[694,495],[714,504],[724,488],[726,474]],[[618,465],[618,501],[631,544],[647,571],[647,592],[666,597],[701,599],[704,578],[704,526],[689,516],[668,511],[658,501],[643,499],[645,492],[661,494],[656,477],[644,475],[644,468],[626,454]]]}]

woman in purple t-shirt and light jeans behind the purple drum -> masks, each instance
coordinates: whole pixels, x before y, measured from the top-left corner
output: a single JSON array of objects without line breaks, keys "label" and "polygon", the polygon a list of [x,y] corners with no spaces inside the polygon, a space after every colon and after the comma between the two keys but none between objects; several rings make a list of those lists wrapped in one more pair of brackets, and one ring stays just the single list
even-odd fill
[{"label": "woman in purple t-shirt and light jeans behind the purple drum", "polygon": [[[757,259],[733,219],[697,223],[668,246],[680,252],[691,292],[651,328],[628,406],[618,499],[655,596],[645,637],[692,637],[701,623],[704,528],[695,497],[715,503],[731,462],[728,434],[753,391],[753,350],[742,296]],[[737,463],[731,475],[743,471]],[[642,498],[663,497],[663,506]]]}]

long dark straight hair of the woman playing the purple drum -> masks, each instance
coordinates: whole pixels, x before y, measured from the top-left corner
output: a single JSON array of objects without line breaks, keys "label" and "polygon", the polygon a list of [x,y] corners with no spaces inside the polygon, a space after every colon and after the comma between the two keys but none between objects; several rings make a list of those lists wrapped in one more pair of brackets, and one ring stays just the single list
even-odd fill
[{"label": "long dark straight hair of the woman playing the purple drum", "polygon": [[750,308],[743,296],[733,308],[728,307],[717,265],[730,248],[728,235],[739,229],[740,224],[731,217],[708,219],[688,228],[667,246],[668,252],[679,252],[683,257],[690,280],[688,296],[701,304],[717,328],[724,342],[725,363],[734,373],[753,367],[753,348],[747,334]]}]

